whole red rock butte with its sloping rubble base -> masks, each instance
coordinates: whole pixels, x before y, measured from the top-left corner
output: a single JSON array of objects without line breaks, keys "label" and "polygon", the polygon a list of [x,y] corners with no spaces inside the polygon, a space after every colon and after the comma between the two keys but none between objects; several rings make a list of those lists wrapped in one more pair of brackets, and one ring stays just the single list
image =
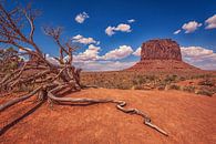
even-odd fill
[{"label": "whole red rock butte with its sloping rubble base", "polygon": [[172,39],[155,39],[143,43],[141,61],[127,71],[200,71],[182,61],[178,43]]}]

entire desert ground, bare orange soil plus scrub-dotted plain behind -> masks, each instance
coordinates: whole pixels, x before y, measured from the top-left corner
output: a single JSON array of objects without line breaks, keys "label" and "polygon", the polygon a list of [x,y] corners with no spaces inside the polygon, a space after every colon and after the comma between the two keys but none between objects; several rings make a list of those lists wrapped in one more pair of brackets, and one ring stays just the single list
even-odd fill
[{"label": "entire desert ground, bare orange soil plus scrub-dotted plain behind", "polygon": [[[166,131],[168,136],[144,125],[142,117],[122,113],[113,103],[50,107],[49,103],[41,105],[32,97],[1,113],[0,142],[214,144],[216,141],[214,72],[200,75],[152,75],[120,71],[83,72],[81,75],[81,83],[97,88],[66,93],[66,97],[123,100],[127,103],[126,107],[136,107],[150,115],[154,124]],[[205,93],[196,93],[200,90],[205,90]],[[1,97],[0,104],[21,94]]]}]

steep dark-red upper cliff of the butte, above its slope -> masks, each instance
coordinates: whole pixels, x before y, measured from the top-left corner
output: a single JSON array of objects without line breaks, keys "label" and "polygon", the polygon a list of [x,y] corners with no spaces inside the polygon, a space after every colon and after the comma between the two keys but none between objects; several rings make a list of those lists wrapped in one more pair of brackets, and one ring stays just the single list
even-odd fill
[{"label": "steep dark-red upper cliff of the butte, above its slope", "polygon": [[142,45],[141,61],[144,60],[182,61],[179,45],[171,39],[150,40]]}]

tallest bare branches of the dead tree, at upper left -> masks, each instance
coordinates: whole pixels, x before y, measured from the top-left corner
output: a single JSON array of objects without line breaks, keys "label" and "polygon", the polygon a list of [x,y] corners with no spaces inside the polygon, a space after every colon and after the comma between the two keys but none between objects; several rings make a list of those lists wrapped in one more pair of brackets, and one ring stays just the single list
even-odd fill
[{"label": "tallest bare branches of the dead tree, at upper left", "polygon": [[[0,42],[9,43],[13,45],[18,45],[18,42],[16,40],[31,44],[32,48],[37,51],[40,59],[43,59],[43,53],[41,52],[40,48],[33,42],[33,33],[34,33],[34,19],[37,17],[37,12],[32,12],[31,8],[28,9],[21,9],[16,7],[12,12],[8,12],[3,6],[0,3],[0,11],[2,12],[0,17],[0,27],[1,27],[1,33],[0,35],[3,38],[0,38]],[[28,12],[29,11],[29,12]],[[18,27],[18,20],[23,19],[23,17],[27,18],[27,20],[30,23],[31,32],[30,32],[30,39],[28,39],[23,32],[21,31],[20,27]],[[20,24],[23,25],[25,22],[21,22]]]}]

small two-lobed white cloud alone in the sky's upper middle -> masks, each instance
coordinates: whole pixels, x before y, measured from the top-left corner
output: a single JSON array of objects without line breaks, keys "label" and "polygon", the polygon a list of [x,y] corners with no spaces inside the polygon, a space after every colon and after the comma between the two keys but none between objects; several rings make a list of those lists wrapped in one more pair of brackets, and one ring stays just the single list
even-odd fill
[{"label": "small two-lobed white cloud alone in the sky's upper middle", "polygon": [[107,35],[113,35],[115,34],[116,31],[121,31],[121,32],[131,32],[131,25],[130,24],[125,24],[125,23],[120,23],[117,27],[111,27],[109,25],[105,29],[105,33]]}]

